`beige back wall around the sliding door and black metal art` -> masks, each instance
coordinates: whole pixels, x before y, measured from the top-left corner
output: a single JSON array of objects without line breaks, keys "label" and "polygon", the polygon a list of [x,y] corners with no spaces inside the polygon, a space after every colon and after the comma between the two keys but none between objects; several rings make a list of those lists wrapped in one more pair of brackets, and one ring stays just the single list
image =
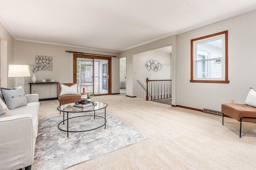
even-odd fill
[{"label": "beige back wall around the sliding door and black metal art", "polygon": [[[75,47],[66,47],[60,45],[49,45],[43,43],[32,43],[26,41],[15,41],[15,64],[34,64],[35,56],[52,56],[53,68],[52,71],[38,71],[36,72],[37,80],[46,78],[54,79],[60,83],[73,82],[73,53],[67,53],[66,51],[77,51],[82,53],[93,53],[100,55],[113,55],[117,56],[117,53],[106,51],[95,51],[89,49],[81,49]],[[119,59],[112,57],[112,93],[119,93]],[[32,74],[32,73],[31,73]],[[117,77],[118,75],[118,77]],[[31,82],[29,77],[25,78],[25,93],[29,93],[29,85]],[[118,83],[118,85],[116,85]],[[33,90],[39,94],[39,98],[48,98],[56,96],[55,86],[33,85]]]}]

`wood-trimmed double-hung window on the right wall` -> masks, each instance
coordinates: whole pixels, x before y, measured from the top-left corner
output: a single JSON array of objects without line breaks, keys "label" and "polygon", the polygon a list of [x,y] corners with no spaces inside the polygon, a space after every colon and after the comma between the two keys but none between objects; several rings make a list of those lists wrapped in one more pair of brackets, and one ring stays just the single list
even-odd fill
[{"label": "wood-trimmed double-hung window on the right wall", "polygon": [[229,83],[228,31],[191,40],[191,80]]}]

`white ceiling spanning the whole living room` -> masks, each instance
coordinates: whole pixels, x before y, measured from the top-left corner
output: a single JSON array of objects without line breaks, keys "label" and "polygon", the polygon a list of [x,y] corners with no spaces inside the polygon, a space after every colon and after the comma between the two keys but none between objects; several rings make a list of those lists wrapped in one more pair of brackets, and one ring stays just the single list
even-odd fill
[{"label": "white ceiling spanning the whole living room", "polygon": [[119,52],[256,9],[256,0],[0,0],[16,40]]}]

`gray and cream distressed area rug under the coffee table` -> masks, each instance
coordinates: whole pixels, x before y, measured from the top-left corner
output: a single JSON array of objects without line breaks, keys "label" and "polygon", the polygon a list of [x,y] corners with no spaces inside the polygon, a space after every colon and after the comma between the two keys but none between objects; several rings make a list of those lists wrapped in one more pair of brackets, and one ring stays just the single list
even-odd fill
[{"label": "gray and cream distressed area rug under the coffee table", "polygon": [[[69,120],[69,130],[88,130],[104,124],[101,117],[76,117]],[[70,113],[69,117],[85,115]],[[104,117],[104,112],[96,115]],[[148,136],[126,125],[122,121],[106,113],[106,129],[100,127],[92,131],[67,133],[58,129],[63,121],[63,114],[42,118],[38,121],[38,137],[36,138],[33,170],[63,170],[75,164],[108,154],[128,145],[138,143]],[[60,124],[66,128],[66,122]]]}]

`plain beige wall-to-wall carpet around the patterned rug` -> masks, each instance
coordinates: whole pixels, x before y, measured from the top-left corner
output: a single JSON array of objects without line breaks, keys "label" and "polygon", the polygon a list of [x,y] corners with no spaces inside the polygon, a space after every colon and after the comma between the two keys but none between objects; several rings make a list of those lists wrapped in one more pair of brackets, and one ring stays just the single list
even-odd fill
[{"label": "plain beige wall-to-wall carpet around the patterned rug", "polygon": [[[239,122],[124,94],[94,96],[106,112],[150,137],[68,170],[250,170],[256,167],[256,124]],[[40,102],[39,118],[59,114],[57,100]]]}]

